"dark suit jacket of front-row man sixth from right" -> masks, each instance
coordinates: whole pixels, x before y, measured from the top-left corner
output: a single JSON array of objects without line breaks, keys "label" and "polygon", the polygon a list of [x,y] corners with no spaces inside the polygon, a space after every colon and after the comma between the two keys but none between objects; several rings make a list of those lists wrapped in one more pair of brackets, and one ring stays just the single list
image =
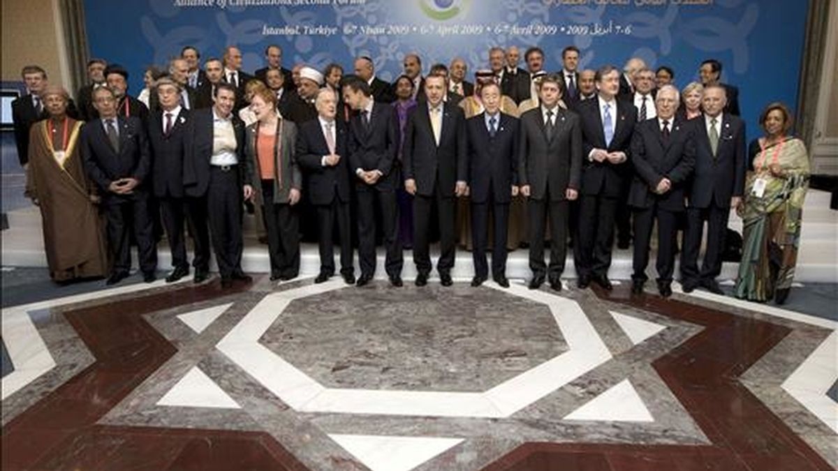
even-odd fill
[{"label": "dark suit jacket of front-row man sixth from right", "polygon": [[518,119],[499,113],[494,137],[486,127],[486,113],[466,120],[468,135],[468,187],[472,203],[485,203],[489,189],[495,203],[509,203],[518,181]]}]

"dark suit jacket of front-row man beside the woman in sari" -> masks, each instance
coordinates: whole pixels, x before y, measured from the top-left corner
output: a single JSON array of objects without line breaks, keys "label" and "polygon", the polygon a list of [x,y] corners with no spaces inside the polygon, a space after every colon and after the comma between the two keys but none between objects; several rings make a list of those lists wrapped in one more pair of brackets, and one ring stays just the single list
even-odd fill
[{"label": "dark suit jacket of front-row man beside the woman in sari", "polygon": [[711,202],[727,208],[733,196],[742,196],[745,186],[745,123],[738,116],[722,114],[719,147],[714,156],[707,135],[705,116],[690,121],[696,138],[696,171],[689,192],[692,208]]}]

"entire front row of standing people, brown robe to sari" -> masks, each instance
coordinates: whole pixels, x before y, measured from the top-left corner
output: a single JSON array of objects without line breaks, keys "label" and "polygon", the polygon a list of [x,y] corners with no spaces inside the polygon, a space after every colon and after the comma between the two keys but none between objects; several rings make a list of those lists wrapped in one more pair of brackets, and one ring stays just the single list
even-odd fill
[{"label": "entire front row of standing people, brown robe to sari", "polygon": [[[788,295],[799,243],[808,161],[802,143],[786,137],[790,116],[781,105],[764,113],[768,132],[752,145],[752,172],[746,188],[744,125],[722,114],[725,91],[706,87],[703,114],[689,121],[676,114],[680,97],[671,85],[655,98],[656,117],[637,122],[630,103],[618,101],[619,72],[597,71],[596,99],[576,112],[559,106],[563,80],[547,75],[539,85],[540,106],[520,119],[500,111],[499,85],[482,87],[483,112],[466,119],[460,107],[444,100],[445,79],[425,80],[425,100],[407,117],[401,137],[391,106],[373,100],[364,80],[348,80],[344,102],[354,112],[349,122],[337,117],[334,91],[315,97],[317,118],[295,125],[277,112],[277,98],[256,88],[251,111],[256,122],[245,127],[232,113],[235,88],[215,88],[215,105],[189,111],[179,105],[180,86],[158,82],[160,111],[148,129],[136,117],[116,116],[116,97],[108,87],[93,91],[100,120],[82,127],[66,116],[69,97],[57,88],[44,92],[50,118],[32,128],[28,192],[44,216],[44,239],[50,272],[56,281],[97,277],[110,266],[109,283],[127,277],[130,241],[138,246],[146,282],[155,278],[157,252],[151,201],[160,205],[172,251],[173,282],[189,273],[184,225],[194,239],[194,281],[209,272],[209,241],[215,250],[221,283],[249,280],[241,270],[242,206],[261,206],[268,234],[272,280],[297,277],[300,267],[297,202],[310,192],[319,228],[321,268],[315,282],[334,276],[333,234],[337,227],[340,274],[348,284],[364,286],[375,275],[375,210],[386,249],[385,271],[401,286],[402,248],[397,236],[396,190],[412,194],[416,285],[427,284],[432,208],[436,206],[441,256],[437,272],[443,286],[452,284],[457,199],[469,195],[473,224],[473,286],[489,277],[486,250],[489,213],[493,224],[491,274],[508,287],[505,273],[510,200],[522,194],[530,215],[531,289],[544,282],[561,290],[566,259],[569,205],[579,201],[574,261],[579,287],[590,282],[611,289],[613,220],[620,188],[630,183],[634,209],[633,292],[647,281],[650,238],[657,222],[658,289],[671,294],[677,230],[686,213],[681,255],[686,292],[704,287],[721,292],[715,278],[729,210],[745,215],[745,246],[737,295],[779,302]],[[400,155],[401,162],[397,158]],[[785,149],[785,152],[782,152]],[[90,184],[92,181],[94,184]],[[350,201],[357,199],[360,277],[354,277]],[[97,229],[96,204],[106,215],[111,260]],[[72,217],[72,235],[56,230]],[[707,221],[706,256],[697,258]],[[546,223],[551,259],[544,261]],[[68,223],[68,226],[70,224]],[[132,233],[129,233],[129,229]],[[62,234],[59,235],[59,231]],[[70,241],[70,243],[64,243]]]}]

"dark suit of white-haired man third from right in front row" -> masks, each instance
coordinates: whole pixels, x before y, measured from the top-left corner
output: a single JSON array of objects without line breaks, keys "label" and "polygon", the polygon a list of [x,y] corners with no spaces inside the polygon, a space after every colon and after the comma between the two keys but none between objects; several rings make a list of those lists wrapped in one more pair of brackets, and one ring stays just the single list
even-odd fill
[{"label": "dark suit of white-haired man third from right in front row", "polygon": [[[646,281],[649,264],[649,240],[654,221],[658,222],[658,256],[655,268],[658,282],[671,282],[675,267],[678,220],[684,213],[684,192],[696,164],[693,127],[670,118],[669,137],[665,137],[658,118],[639,122],[631,142],[634,179],[629,190],[629,206],[634,208],[634,275]],[[658,194],[660,181],[669,179],[672,186]]]}]

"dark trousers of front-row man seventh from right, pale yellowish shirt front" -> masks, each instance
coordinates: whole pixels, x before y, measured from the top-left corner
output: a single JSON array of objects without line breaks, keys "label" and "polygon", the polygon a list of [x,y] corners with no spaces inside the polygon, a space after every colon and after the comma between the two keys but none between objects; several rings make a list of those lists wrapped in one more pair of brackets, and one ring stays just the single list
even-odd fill
[{"label": "dark trousers of front-row man seventh from right, pale yellowish shirt front", "polygon": [[439,221],[439,261],[437,272],[440,275],[451,273],[456,254],[454,225],[457,221],[457,199],[443,195],[439,185],[435,185],[430,196],[416,194],[413,198],[413,262],[416,272],[427,275],[431,272],[431,215],[433,204],[437,204]]}]

